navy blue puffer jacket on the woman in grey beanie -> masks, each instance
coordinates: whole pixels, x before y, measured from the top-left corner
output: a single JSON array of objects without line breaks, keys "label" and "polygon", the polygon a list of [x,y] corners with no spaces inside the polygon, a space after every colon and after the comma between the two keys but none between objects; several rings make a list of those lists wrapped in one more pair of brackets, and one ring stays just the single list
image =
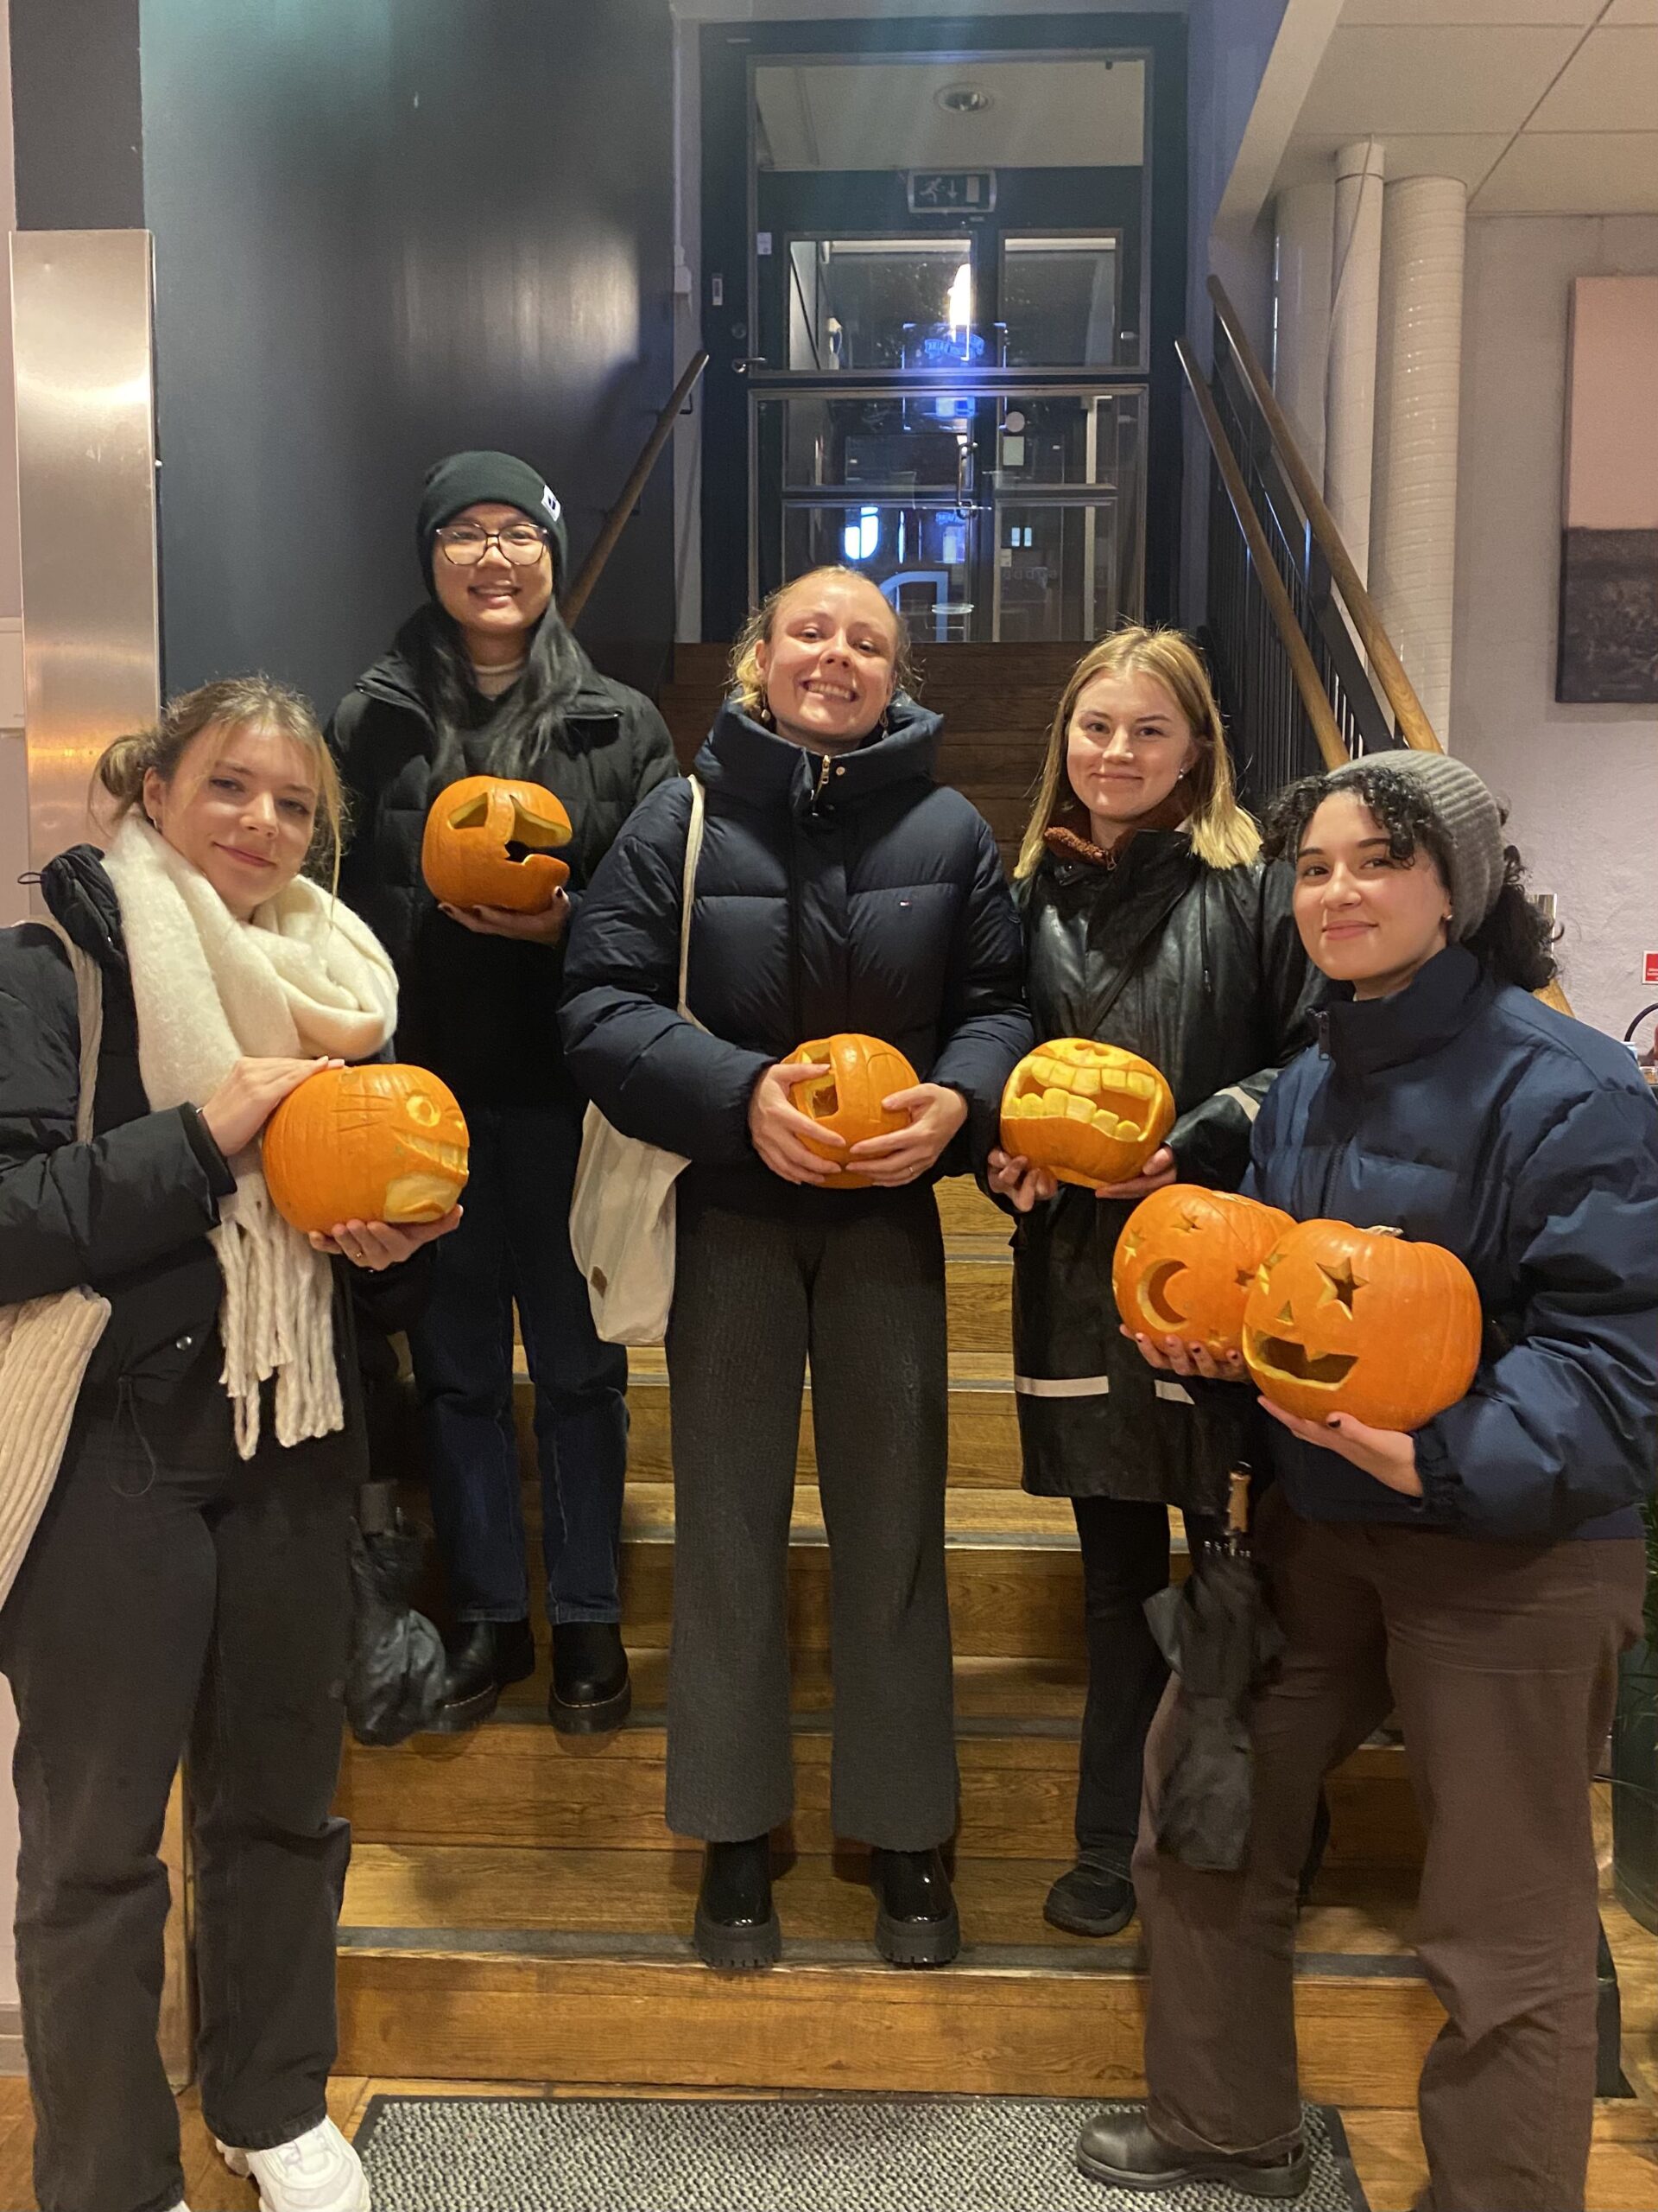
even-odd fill
[{"label": "navy blue puffer jacket on the woman in grey beanie", "polygon": [[1404,1498],[1273,1422],[1309,1520],[1545,1542],[1638,1535],[1658,1444],[1658,1106],[1629,1053],[1448,947],[1397,995],[1333,998],[1278,1077],[1245,1190],[1386,1223],[1479,1285],[1486,1354],[1417,1429]]}]

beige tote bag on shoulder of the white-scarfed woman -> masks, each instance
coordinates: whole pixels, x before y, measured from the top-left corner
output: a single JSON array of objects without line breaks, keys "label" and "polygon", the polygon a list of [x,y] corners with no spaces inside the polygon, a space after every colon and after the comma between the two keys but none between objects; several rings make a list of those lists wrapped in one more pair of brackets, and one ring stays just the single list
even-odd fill
[{"label": "beige tote bag on shoulder of the white-scarfed woman", "polygon": [[[69,947],[80,1009],[80,1102],[75,1137],[93,1135],[97,1048],[104,1040],[104,978],[97,962],[57,922]],[[22,1305],[0,1305],[0,1604],[18,1579],[40,1515],[57,1480],[86,1363],[108,1323],[95,1290],[57,1290]]]}]

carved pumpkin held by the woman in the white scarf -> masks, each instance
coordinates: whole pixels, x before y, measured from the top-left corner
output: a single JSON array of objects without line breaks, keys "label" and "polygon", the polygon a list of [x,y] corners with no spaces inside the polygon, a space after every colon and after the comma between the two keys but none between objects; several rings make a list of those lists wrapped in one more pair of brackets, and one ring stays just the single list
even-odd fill
[{"label": "carved pumpkin held by the woman in the white scarf", "polygon": [[466,1188],[466,1119],[447,1084],[398,1062],[323,1068],[265,1124],[265,1183],[283,1221],[442,1221]]}]

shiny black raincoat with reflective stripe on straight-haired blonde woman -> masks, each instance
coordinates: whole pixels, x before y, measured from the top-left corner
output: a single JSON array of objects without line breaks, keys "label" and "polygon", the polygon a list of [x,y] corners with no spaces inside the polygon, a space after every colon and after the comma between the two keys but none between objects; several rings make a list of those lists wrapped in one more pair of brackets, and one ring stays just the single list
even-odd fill
[{"label": "shiny black raincoat with reflective stripe on straight-haired blonde woman", "polygon": [[[1236,1190],[1269,1084],[1311,1037],[1284,867],[1207,867],[1178,830],[1116,867],[1048,854],[1024,887],[1037,1037],[1099,1037],[1163,1071],[1183,1181]],[[1101,1013],[1127,967],[1114,1004]],[[1253,1400],[1156,1376],[1119,1332],[1112,1254],[1134,1208],[1063,1186],[1015,1232],[1012,1334],[1026,1489],[1216,1511]]]}]

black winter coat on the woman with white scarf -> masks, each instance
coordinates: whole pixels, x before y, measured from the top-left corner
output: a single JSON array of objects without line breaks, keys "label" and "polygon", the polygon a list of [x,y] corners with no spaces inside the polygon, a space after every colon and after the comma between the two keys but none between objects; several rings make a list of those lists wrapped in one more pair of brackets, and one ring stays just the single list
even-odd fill
[{"label": "black winter coat on the woman with white scarf", "polygon": [[[223,1279],[208,1243],[219,1201],[237,1188],[223,1155],[183,1106],[150,1113],[115,885],[93,845],[49,860],[46,907],[88,951],[104,982],[93,1139],[75,1139],[80,1018],[62,942],[31,922],[0,929],[0,1305],[88,1283],[111,1318],[84,1389],[128,1394],[159,1455],[188,1436],[228,1436],[219,1387]],[[424,1290],[424,1254],[380,1276],[336,1263],[334,1340],[354,1356],[354,1305],[402,1327]],[[356,1402],[345,1389],[345,1402]],[[186,1436],[188,1431],[188,1436]],[[340,1440],[360,1473],[360,1436]]]}]

